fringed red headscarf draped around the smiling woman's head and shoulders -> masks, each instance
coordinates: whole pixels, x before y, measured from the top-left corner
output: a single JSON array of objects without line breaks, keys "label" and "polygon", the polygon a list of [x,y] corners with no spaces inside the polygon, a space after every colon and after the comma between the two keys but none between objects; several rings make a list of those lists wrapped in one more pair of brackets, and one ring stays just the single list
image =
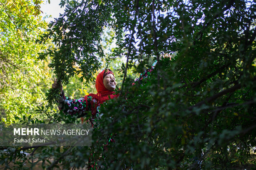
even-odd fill
[{"label": "fringed red headscarf draped around the smiling woman's head and shoulders", "polygon": [[[109,69],[106,69],[106,71],[103,70],[102,72],[100,72],[100,74],[97,75],[96,84],[95,84],[96,90],[98,92],[97,94],[90,93],[89,95],[84,96],[84,98],[86,100],[86,105],[87,106],[89,104],[91,105],[92,116],[95,116],[95,114],[97,112],[97,106],[99,104],[102,104],[103,102],[109,100],[109,98],[113,99],[113,98],[117,98],[119,96],[118,94],[114,94],[115,93],[114,91],[110,91],[104,86],[103,79],[108,74],[114,75],[114,73]],[[92,101],[90,103],[88,103],[88,101],[87,101],[88,96],[92,97]],[[83,120],[84,120],[84,118],[81,117],[82,123],[83,123]]]}]

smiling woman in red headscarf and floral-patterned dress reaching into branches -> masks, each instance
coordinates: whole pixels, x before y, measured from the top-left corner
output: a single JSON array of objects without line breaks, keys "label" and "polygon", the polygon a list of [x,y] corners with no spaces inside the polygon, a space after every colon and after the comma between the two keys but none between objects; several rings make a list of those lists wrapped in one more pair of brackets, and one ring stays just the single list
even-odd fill
[{"label": "smiling woman in red headscarf and floral-patterned dress reaching into branches", "polygon": [[60,91],[62,91],[59,100],[57,100],[59,109],[66,114],[75,114],[78,117],[81,117],[82,123],[86,111],[90,110],[92,113],[92,118],[90,119],[92,126],[94,125],[93,120],[95,118],[100,119],[102,116],[99,112],[100,104],[109,100],[109,98],[113,99],[119,96],[118,94],[114,94],[116,81],[114,73],[110,69],[103,70],[97,75],[95,87],[98,92],[97,94],[90,93],[78,100],[71,100],[70,98],[65,97],[62,85],[57,83],[57,79],[52,84],[52,88],[59,88]]}]

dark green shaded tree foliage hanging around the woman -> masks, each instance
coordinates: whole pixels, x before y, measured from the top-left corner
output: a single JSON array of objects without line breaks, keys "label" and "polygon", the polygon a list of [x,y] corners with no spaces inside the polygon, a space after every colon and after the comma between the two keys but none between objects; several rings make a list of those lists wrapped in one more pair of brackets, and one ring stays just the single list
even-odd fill
[{"label": "dark green shaded tree foliage hanging around the woman", "polygon": [[[62,0],[64,4],[65,13],[38,40],[52,37],[56,48],[39,58],[50,55],[50,67],[68,84],[75,74],[93,82],[102,58],[108,62],[126,56],[120,97],[102,105],[104,116],[93,130],[92,147],[39,147],[30,151],[29,161],[37,158],[49,169],[81,168],[94,153],[93,161],[106,169],[255,167],[254,3]],[[107,56],[101,45],[105,26],[114,29],[117,44]],[[159,61],[150,78],[131,86],[127,70],[142,72],[163,52],[173,60]],[[57,94],[49,91],[50,105]],[[62,112],[47,114],[52,123],[79,122]],[[116,142],[103,151],[110,136]],[[19,149],[10,149],[9,155],[22,157]],[[14,157],[8,158],[5,162]]]}]

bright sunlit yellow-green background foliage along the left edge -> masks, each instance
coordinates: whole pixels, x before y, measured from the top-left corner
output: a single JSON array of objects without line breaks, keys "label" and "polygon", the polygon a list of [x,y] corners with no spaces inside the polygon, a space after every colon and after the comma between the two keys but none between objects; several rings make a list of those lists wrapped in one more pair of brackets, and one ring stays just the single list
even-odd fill
[{"label": "bright sunlit yellow-green background foliage along the left edge", "polygon": [[47,24],[33,15],[36,9],[26,0],[0,1],[2,122],[17,122],[15,116],[34,116],[35,108],[46,103],[45,92],[50,86],[52,74],[47,68],[49,61],[37,60],[38,51],[45,50],[46,45],[35,44],[35,41],[46,30]]}]

